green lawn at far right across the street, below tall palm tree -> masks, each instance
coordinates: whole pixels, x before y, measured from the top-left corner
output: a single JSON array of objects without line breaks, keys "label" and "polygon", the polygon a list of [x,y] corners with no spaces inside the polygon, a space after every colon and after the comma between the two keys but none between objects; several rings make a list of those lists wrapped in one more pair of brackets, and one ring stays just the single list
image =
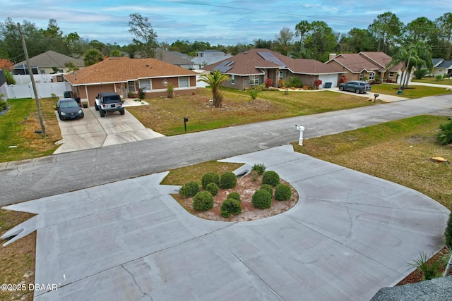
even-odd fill
[{"label": "green lawn at far right across the street, below tall palm tree", "polygon": [[372,93],[396,95],[407,98],[420,98],[452,93],[452,91],[447,91],[445,88],[419,86],[419,85],[409,85],[408,89],[403,90],[403,93],[401,95],[398,94],[398,90],[399,90],[398,85],[396,84],[384,83],[371,86]]}]

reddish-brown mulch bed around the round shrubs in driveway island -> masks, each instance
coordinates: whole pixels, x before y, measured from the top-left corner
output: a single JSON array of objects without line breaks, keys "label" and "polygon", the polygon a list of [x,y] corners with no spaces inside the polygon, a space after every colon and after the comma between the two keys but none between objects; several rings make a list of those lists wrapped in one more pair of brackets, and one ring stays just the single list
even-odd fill
[{"label": "reddish-brown mulch bed around the round shrubs in driveway island", "polygon": [[[289,185],[284,180],[280,181],[282,184]],[[283,213],[290,208],[294,207],[298,202],[298,193],[292,188],[292,197],[287,201],[278,202],[275,198],[272,198],[271,207],[268,209],[254,208],[251,198],[254,192],[261,188],[262,177],[258,180],[251,180],[251,176],[247,175],[237,179],[237,185],[232,189],[220,189],[218,195],[213,197],[213,208],[207,211],[198,211],[193,209],[193,197],[184,198],[181,195],[173,195],[174,199],[179,202],[191,214],[200,217],[201,219],[210,219],[213,221],[255,221],[257,219],[265,219],[276,214]],[[239,192],[240,201],[242,204],[242,213],[236,216],[231,215],[229,218],[222,217],[220,214],[220,207],[222,202],[227,199],[227,195],[231,192]]]}]

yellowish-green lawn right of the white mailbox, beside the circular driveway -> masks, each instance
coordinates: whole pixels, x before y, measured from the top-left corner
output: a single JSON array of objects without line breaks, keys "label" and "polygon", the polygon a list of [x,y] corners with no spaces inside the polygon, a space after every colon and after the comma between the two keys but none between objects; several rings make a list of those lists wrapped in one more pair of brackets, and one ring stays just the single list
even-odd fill
[{"label": "yellowish-green lawn right of the white mailbox, beside the circular driveway", "polygon": [[432,197],[452,210],[452,149],[438,145],[436,131],[445,116],[416,116],[336,135],[293,143],[297,152],[384,178]]}]

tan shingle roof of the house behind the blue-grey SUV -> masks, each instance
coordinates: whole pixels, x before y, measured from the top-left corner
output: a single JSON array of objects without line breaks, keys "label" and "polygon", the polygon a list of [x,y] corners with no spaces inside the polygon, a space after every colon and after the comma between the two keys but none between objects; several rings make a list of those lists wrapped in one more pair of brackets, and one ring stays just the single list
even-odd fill
[{"label": "tan shingle roof of the house behind the blue-grey SUV", "polygon": [[[369,51],[359,52],[359,54],[338,54],[338,56],[335,56],[330,61],[337,61],[352,73],[361,73],[363,70],[367,70],[367,72],[384,71],[386,70],[386,65],[392,61],[392,58],[384,52]],[[398,63],[388,70],[397,71],[401,67],[401,63]]]}]

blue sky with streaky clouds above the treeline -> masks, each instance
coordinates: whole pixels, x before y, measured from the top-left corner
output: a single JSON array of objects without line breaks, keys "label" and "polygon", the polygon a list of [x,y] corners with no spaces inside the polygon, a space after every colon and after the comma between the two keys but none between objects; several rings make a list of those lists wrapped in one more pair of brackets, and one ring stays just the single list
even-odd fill
[{"label": "blue sky with streaky clouds above the treeline", "polygon": [[53,18],[64,35],[77,32],[104,43],[131,43],[129,15],[140,13],[152,23],[158,42],[180,39],[234,45],[274,39],[283,27],[294,30],[300,20],[322,20],[340,33],[367,28],[387,11],[405,25],[419,17],[435,20],[452,11],[452,0],[0,0],[0,7],[1,22],[8,17],[15,23],[28,20],[45,29]]}]

